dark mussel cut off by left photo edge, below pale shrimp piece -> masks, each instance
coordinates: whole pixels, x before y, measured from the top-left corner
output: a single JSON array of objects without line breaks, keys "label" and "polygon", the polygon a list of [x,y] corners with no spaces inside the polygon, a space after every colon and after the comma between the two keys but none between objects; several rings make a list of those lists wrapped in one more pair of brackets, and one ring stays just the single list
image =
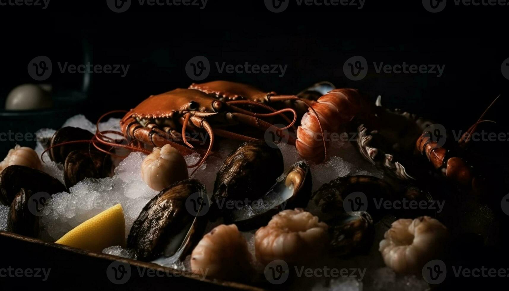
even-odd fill
[{"label": "dark mussel cut off by left photo edge, below pale shrimp piece", "polygon": [[0,203],[10,206],[20,189],[53,195],[67,188],[50,175],[25,166],[9,166],[0,173]]}]

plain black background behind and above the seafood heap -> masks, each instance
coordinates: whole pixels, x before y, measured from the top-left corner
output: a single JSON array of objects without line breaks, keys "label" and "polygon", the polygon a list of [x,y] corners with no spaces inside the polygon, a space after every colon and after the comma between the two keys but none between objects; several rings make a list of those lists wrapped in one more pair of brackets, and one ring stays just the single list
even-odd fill
[{"label": "plain black background behind and above the seafood heap", "polygon": [[[135,1],[120,14],[111,12],[102,0],[51,0],[46,10],[0,6],[2,104],[14,87],[37,83],[27,73],[27,64],[37,56],[48,56],[53,63],[51,77],[42,83],[53,85],[55,98],[82,90],[83,75],[61,74],[56,63],[82,64],[86,49],[92,52],[92,64],[130,65],[125,77],[92,74],[86,100],[57,103],[58,111],[13,117],[0,110],[0,132],[57,128],[77,113],[95,121],[110,110],[129,110],[151,94],[187,88],[194,81],[186,75],[185,65],[200,55],[212,64],[203,82],[231,80],[295,94],[318,81],[330,81],[340,88],[361,89],[373,101],[381,94],[387,107],[425,116],[455,130],[468,128],[501,94],[488,118],[506,124],[509,80],[500,66],[509,57],[508,9],[456,7],[452,0],[435,14],[426,11],[421,1],[380,0],[366,0],[362,10],[296,7],[292,1],[287,11],[277,14],[269,12],[262,0],[209,0],[204,10],[139,7]],[[354,82],[345,77],[343,64],[356,55],[367,60],[369,73]],[[284,77],[219,74],[215,62],[288,68]],[[445,70],[441,77],[377,74],[373,62],[440,64]],[[0,155],[5,156],[15,143],[2,142]],[[466,256],[476,252],[466,251]],[[492,255],[500,255],[499,251],[493,250]],[[479,254],[479,260],[484,258]]]}]

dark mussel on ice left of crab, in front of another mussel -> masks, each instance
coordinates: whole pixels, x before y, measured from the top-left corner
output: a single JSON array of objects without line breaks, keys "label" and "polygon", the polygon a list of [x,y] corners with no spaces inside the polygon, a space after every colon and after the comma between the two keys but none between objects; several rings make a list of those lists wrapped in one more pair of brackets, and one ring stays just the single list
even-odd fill
[{"label": "dark mussel on ice left of crab, in front of another mussel", "polygon": [[64,164],[64,180],[68,188],[84,178],[104,178],[110,172],[110,156],[95,149],[73,150]]}]

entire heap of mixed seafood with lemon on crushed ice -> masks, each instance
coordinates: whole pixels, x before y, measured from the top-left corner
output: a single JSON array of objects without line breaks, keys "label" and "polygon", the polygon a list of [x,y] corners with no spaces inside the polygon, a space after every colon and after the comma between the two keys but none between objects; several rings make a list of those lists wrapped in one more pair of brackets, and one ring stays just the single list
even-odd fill
[{"label": "entire heap of mixed seafood with lemon on crushed ice", "polygon": [[[108,126],[110,113],[48,131],[47,146],[38,137],[0,163],[0,229],[219,283],[267,287],[282,261],[285,287],[305,285],[293,269],[356,264],[366,290],[386,289],[380,272],[428,287],[427,262],[450,259],[442,250],[464,235],[498,240],[502,223],[460,191],[486,181],[433,139],[431,121],[369,97],[329,82],[279,95],[213,81],[111,112],[125,115]],[[326,137],[349,129],[351,143]],[[437,191],[446,181],[421,154],[453,187]],[[468,233],[463,209],[484,219],[469,218]]]}]

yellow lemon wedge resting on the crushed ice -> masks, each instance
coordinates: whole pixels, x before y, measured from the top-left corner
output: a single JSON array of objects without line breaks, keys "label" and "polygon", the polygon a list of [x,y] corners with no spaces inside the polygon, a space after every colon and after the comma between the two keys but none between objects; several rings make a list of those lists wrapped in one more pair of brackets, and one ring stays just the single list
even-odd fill
[{"label": "yellow lemon wedge resting on the crushed ice", "polygon": [[117,204],[76,226],[55,244],[96,252],[111,246],[124,247],[125,224],[124,210]]}]

